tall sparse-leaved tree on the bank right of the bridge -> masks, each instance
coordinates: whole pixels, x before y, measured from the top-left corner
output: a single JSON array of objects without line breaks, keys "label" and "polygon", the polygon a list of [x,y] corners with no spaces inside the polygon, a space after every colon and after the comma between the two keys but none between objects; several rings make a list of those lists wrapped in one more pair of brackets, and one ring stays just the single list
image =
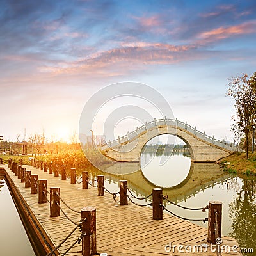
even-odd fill
[{"label": "tall sparse-leaved tree on the bank right of the bridge", "polygon": [[256,72],[249,78],[247,74],[231,77],[227,95],[235,100],[236,113],[232,116],[231,131],[237,137],[244,135],[246,158],[248,159],[248,136],[256,119]]}]

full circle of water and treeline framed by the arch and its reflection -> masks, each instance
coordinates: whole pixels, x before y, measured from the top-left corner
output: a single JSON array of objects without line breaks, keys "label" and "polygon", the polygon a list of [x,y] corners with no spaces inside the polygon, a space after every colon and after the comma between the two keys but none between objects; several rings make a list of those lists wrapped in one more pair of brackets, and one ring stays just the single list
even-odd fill
[{"label": "full circle of water and treeline framed by the arch and its reflection", "polygon": [[[159,146],[154,144],[154,139],[148,141],[140,157],[141,172],[145,179],[163,188],[177,186],[185,180],[189,174],[191,165],[186,143],[179,138],[176,138],[175,145],[167,145],[167,147],[172,148],[172,150],[165,150],[166,156],[164,157],[166,157],[166,162],[160,164],[161,157],[163,157],[161,148],[164,147],[164,141],[167,141],[168,136],[172,135],[157,136],[160,143],[160,150],[158,150],[158,154],[153,158],[150,156],[150,151],[152,148]],[[168,153],[170,153],[170,155],[168,155]]]}]

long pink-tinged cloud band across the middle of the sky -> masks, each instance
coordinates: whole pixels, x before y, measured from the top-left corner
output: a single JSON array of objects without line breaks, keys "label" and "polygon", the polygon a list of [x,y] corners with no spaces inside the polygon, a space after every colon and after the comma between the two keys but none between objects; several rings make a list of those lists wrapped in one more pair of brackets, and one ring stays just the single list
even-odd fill
[{"label": "long pink-tinged cloud band across the middle of the sky", "polygon": [[90,76],[122,76],[144,65],[173,64],[191,60],[193,45],[170,45],[150,42],[122,43],[122,47],[96,52],[88,58],[59,65],[42,66],[40,72],[90,74]]}]

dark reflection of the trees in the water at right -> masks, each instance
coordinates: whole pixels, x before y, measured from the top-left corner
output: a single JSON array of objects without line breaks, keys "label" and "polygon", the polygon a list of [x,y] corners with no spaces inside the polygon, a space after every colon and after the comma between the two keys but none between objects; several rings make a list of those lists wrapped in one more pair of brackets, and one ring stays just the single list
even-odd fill
[{"label": "dark reflection of the trees in the water at right", "polygon": [[[256,252],[256,180],[244,180],[237,197],[229,204],[232,219],[230,236],[237,239],[241,248],[253,248]],[[253,255],[253,253],[243,253]]]}]

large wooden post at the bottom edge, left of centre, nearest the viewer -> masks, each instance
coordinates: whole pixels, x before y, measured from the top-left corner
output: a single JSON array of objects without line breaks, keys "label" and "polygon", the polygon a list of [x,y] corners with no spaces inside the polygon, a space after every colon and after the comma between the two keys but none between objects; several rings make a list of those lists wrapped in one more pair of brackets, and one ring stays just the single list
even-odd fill
[{"label": "large wooden post at the bottom edge, left of centre, nearest the viewer", "polygon": [[96,208],[84,207],[81,209],[82,222],[82,255],[91,256],[97,253],[96,248]]}]

